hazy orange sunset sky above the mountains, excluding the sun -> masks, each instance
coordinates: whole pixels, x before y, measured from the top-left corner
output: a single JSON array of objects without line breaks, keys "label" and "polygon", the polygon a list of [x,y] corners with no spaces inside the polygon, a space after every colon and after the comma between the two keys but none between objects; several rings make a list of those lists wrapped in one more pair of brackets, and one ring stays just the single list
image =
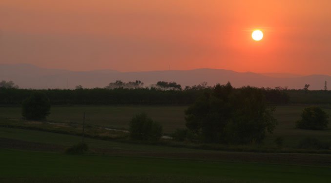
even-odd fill
[{"label": "hazy orange sunset sky above the mountains, excluding the sun", "polygon": [[[331,75],[331,0],[0,0],[0,63]],[[253,41],[253,29],[264,39]]]}]

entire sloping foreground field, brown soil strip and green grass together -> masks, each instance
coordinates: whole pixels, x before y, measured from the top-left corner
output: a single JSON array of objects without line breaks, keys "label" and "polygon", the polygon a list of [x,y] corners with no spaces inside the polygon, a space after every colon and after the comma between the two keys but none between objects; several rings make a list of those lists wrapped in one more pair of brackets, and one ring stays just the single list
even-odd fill
[{"label": "entire sloping foreground field, brown soil strip and green grass together", "polygon": [[331,180],[331,155],[326,154],[235,153],[89,138],[86,138],[91,148],[88,154],[62,153],[64,148],[80,141],[80,137],[72,135],[0,128],[0,182],[310,183]]}]

